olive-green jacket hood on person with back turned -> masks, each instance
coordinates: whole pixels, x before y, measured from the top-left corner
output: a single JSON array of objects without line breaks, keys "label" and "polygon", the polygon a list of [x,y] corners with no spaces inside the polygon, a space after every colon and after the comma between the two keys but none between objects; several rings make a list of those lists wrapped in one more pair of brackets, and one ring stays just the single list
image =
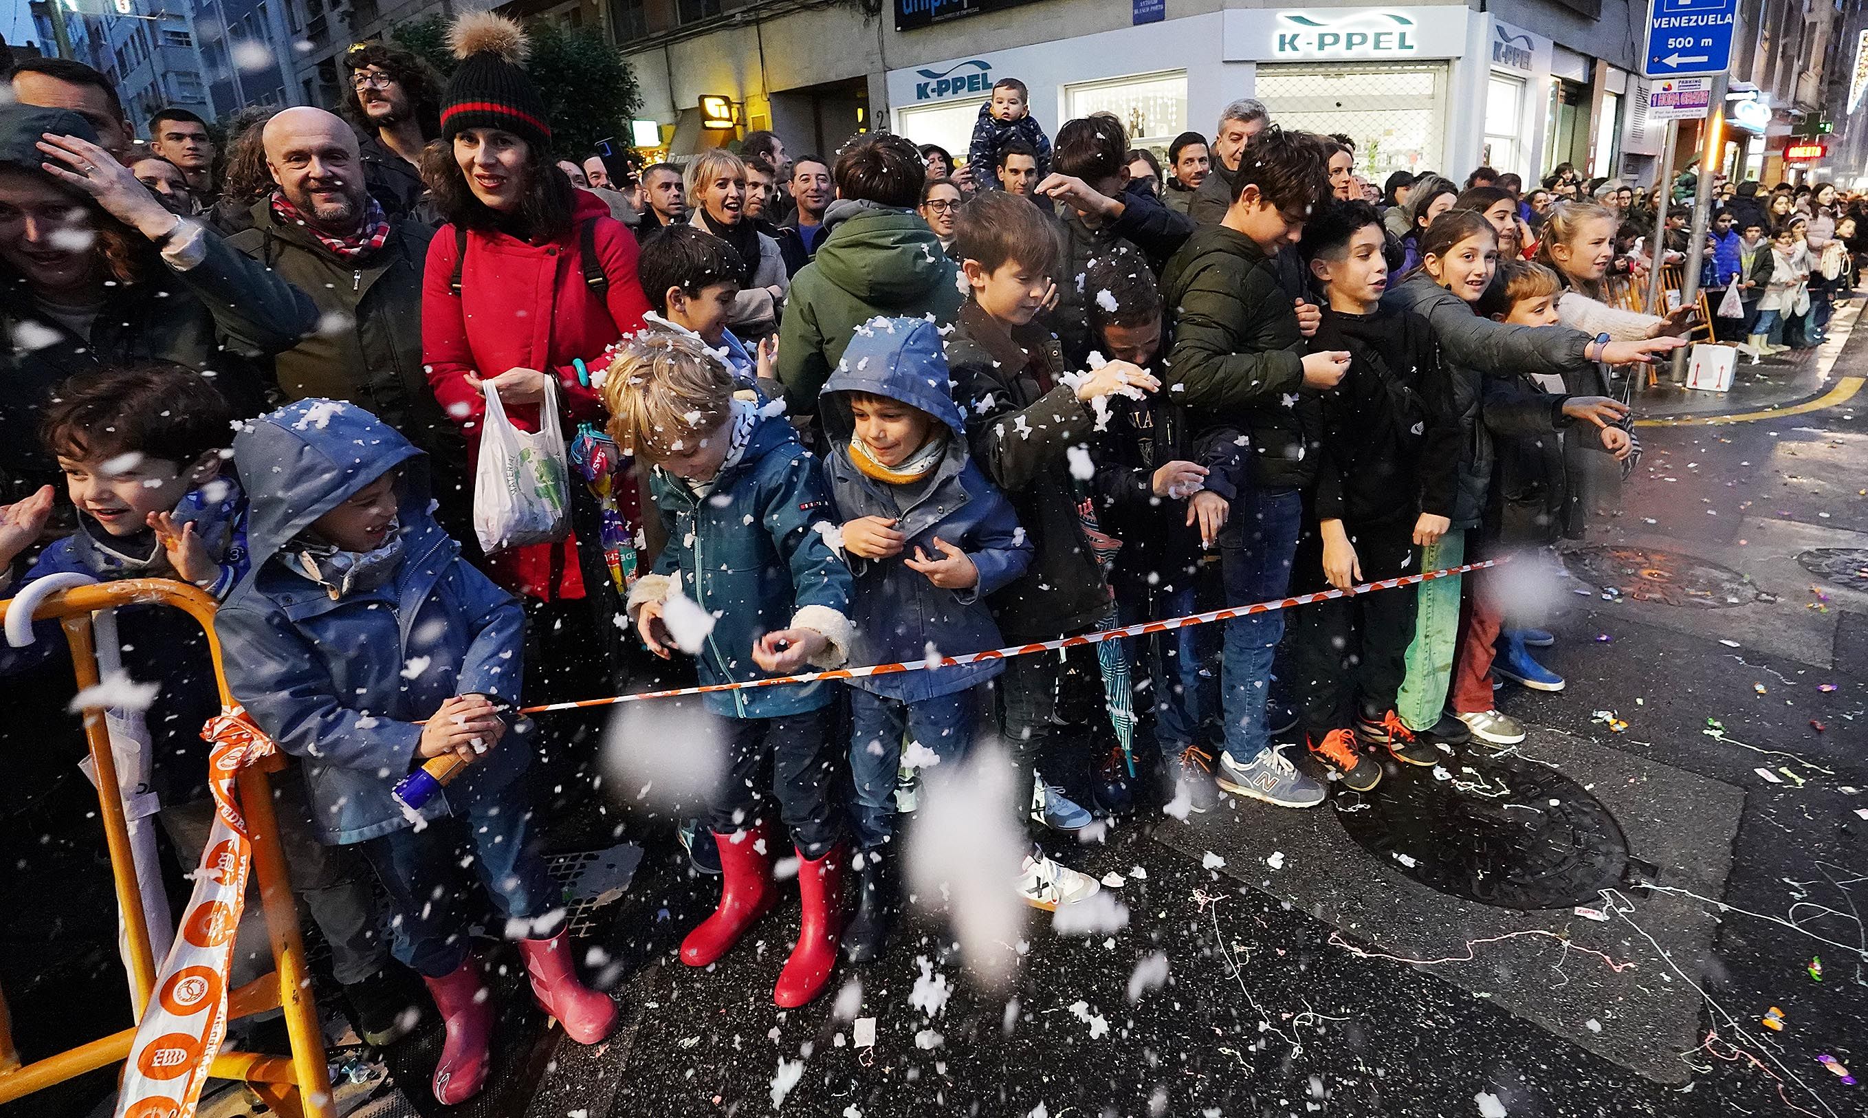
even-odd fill
[{"label": "olive-green jacket hood on person with back turned", "polygon": [[876,307],[904,307],[951,284],[953,262],[940,237],[906,209],[874,202],[831,202],[829,232],[813,262],[829,282]]}]

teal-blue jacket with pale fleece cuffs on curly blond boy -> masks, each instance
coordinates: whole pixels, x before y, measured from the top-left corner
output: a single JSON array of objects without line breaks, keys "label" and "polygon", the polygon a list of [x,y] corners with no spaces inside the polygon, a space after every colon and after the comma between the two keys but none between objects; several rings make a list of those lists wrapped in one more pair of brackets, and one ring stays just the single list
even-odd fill
[{"label": "teal-blue jacket with pale fleece cuffs on curly blond boy", "polygon": [[[755,408],[734,400],[734,419]],[[680,591],[714,613],[695,656],[700,682],[771,679],[753,662],[753,641],[781,628],[813,628],[829,641],[814,667],[837,667],[850,651],[850,568],[829,544],[835,509],[824,471],[779,415],[758,409],[738,460],[721,466],[706,494],[661,469],[650,494],[667,546],[654,574],[630,589],[630,617]],[[783,718],[835,699],[828,682],[712,692],[702,705],[727,718]]]}]

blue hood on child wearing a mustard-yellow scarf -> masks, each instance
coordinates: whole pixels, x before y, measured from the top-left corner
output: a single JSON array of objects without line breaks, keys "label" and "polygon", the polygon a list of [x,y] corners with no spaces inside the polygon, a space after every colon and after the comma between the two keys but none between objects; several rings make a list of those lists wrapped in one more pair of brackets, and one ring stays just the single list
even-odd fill
[{"label": "blue hood on child wearing a mustard-yellow scarf", "polygon": [[940,329],[921,318],[870,318],[856,327],[842,361],[818,391],[824,434],[850,441],[850,406],[837,393],[869,393],[900,400],[947,424],[958,445],[966,443],[966,417],[953,402],[947,355]]}]

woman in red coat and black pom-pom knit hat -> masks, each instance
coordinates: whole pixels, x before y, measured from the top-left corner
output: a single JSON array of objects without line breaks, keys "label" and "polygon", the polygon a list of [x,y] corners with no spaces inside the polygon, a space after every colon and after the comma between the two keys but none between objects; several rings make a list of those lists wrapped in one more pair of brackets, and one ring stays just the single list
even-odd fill
[{"label": "woman in red coat and black pom-pom knit hat", "polygon": [[[555,166],[544,99],[517,67],[525,54],[517,24],[469,15],[450,39],[463,62],[443,97],[441,140],[422,155],[448,222],[428,249],[422,359],[435,398],[478,456],[486,387],[521,430],[538,430],[545,404],[570,421],[600,421],[601,402],[579,365],[598,363],[605,346],[637,329],[648,301],[635,279],[635,239]],[[551,615],[534,632],[601,643],[615,624],[607,615],[598,623],[585,606],[601,608],[609,578],[600,557],[588,574],[579,563],[594,550],[577,546],[575,529],[590,523],[575,516],[575,490],[572,538],[499,552],[488,570],[532,598],[534,615]],[[581,602],[587,595],[598,602]],[[559,682],[579,686],[564,675]]]}]

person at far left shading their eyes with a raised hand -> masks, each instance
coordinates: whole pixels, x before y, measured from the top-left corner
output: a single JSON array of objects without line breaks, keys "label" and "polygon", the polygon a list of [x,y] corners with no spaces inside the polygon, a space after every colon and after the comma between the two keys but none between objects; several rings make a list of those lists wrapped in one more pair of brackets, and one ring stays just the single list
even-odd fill
[{"label": "person at far left shading their eyes with a raised hand", "polygon": [[0,503],[58,480],[37,430],[56,383],[170,361],[254,415],[256,361],[318,329],[304,292],[164,209],[64,108],[0,107]]}]

